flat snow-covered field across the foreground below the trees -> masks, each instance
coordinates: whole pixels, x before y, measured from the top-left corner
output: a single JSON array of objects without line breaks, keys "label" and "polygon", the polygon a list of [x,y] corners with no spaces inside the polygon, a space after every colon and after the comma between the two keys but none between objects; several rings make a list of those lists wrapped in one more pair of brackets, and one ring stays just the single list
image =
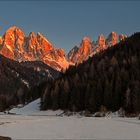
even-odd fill
[{"label": "flat snow-covered field across the foreground below the trees", "polygon": [[1,123],[0,135],[13,140],[140,139],[140,121],[135,118],[1,115]]}]

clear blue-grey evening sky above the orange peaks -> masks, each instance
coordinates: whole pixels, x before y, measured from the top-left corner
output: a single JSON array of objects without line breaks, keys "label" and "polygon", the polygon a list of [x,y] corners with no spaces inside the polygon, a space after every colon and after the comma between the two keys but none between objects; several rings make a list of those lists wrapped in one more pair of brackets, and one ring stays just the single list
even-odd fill
[{"label": "clear blue-grey evening sky above the orange peaks", "polygon": [[40,32],[66,53],[84,36],[96,41],[111,31],[131,35],[140,31],[137,0],[6,0],[0,1],[0,35],[20,27],[26,36]]}]

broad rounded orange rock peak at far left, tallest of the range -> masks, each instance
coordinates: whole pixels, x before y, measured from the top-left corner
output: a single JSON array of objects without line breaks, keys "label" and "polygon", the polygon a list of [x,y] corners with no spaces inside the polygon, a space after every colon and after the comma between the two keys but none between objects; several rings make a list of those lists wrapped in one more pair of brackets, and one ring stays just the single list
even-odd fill
[{"label": "broad rounded orange rock peak at far left, tallest of the range", "polygon": [[12,26],[7,29],[3,36],[3,44],[1,46],[0,54],[10,59],[20,59],[24,52],[24,38],[25,35],[19,27]]}]

